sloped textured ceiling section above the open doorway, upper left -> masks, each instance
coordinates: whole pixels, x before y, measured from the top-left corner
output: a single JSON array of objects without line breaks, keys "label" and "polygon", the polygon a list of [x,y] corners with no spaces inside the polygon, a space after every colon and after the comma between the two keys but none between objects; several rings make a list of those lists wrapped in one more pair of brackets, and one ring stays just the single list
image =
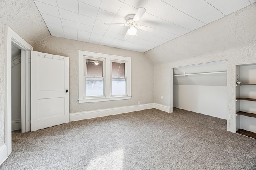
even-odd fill
[{"label": "sloped textured ceiling section above the open doorway, upper left", "polygon": [[0,0],[0,27],[4,25],[32,46],[50,36],[33,0]]}]

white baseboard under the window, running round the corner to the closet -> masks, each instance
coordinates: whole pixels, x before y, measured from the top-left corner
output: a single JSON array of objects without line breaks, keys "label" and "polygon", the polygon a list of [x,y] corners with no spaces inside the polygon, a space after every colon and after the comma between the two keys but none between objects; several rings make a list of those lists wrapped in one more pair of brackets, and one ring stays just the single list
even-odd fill
[{"label": "white baseboard under the window, running round the corner to the closet", "polygon": [[146,109],[156,108],[162,111],[166,111],[169,113],[170,107],[164,106],[156,103],[149,104],[138,104],[133,106],[124,106],[124,107],[114,107],[110,109],[100,109],[100,110],[92,110],[92,111],[83,111],[77,113],[70,113],[69,121],[78,121],[84,119],[92,119],[96,117],[110,116],[110,115],[118,115],[122,113],[129,113],[133,111],[140,111]]}]

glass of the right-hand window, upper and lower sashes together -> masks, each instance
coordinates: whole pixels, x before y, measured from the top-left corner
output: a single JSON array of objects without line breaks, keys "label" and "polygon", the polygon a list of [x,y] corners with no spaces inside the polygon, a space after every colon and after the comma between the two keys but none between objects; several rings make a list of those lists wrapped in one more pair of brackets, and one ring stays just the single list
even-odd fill
[{"label": "glass of the right-hand window, upper and lower sashes together", "polygon": [[111,63],[111,95],[126,95],[125,63]]}]

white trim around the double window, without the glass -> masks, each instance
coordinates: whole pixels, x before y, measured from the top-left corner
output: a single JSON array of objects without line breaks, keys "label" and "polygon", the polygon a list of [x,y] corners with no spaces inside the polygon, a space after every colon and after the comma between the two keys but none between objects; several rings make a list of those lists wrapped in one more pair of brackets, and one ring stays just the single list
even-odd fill
[{"label": "white trim around the double window, without the glass", "polygon": [[[84,57],[97,57],[105,59],[105,97],[84,98]],[[127,94],[124,96],[111,96],[111,60],[126,62]],[[78,102],[102,102],[111,100],[124,100],[132,98],[131,95],[131,58],[117,55],[108,55],[78,50]]]}]

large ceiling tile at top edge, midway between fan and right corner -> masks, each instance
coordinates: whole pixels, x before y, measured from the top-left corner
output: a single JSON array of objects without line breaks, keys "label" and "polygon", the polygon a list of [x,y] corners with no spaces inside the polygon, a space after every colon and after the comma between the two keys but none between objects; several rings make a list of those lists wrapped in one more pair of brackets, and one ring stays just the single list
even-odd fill
[{"label": "large ceiling tile at top edge, midway between fan and right corner", "polygon": [[220,11],[204,0],[162,0],[170,6],[204,23],[211,23],[224,17]]}]

